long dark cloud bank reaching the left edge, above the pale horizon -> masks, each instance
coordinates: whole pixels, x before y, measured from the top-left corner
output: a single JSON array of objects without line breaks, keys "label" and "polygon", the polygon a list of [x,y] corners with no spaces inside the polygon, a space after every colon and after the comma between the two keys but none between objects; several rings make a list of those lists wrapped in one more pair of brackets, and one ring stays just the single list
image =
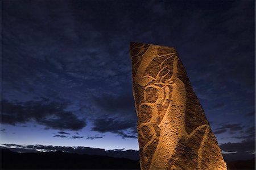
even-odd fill
[{"label": "long dark cloud bank reaching the left edge, above the pale horizon", "polygon": [[10,102],[1,101],[1,123],[9,125],[24,124],[35,121],[46,128],[58,130],[81,130],[86,126],[71,111],[66,111],[68,103],[50,101],[44,98],[40,101]]}]

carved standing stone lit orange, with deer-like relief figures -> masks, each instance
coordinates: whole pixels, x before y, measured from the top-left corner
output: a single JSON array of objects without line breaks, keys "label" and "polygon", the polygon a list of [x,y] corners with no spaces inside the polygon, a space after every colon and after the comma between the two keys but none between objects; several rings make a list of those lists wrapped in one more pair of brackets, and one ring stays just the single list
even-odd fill
[{"label": "carved standing stone lit orange, with deer-like relief figures", "polygon": [[226,169],[176,50],[131,43],[142,169]]}]

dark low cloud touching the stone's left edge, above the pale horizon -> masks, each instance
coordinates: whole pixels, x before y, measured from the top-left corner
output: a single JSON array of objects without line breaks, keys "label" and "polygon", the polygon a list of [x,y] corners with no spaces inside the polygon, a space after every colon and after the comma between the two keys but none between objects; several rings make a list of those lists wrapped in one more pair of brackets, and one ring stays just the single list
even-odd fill
[{"label": "dark low cloud touching the stone's left edge, above the pale horizon", "polygon": [[122,138],[137,138],[136,125],[137,122],[123,118],[98,118],[94,120],[93,131],[98,132],[113,132]]}]

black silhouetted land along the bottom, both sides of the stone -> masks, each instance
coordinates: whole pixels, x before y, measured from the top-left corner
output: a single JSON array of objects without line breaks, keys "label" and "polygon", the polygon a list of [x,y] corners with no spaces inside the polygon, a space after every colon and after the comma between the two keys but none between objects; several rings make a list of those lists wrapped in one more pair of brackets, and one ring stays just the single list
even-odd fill
[{"label": "black silhouetted land along the bottom, both sides of the stone", "polygon": [[[57,152],[18,153],[1,149],[0,169],[140,169],[139,160]],[[228,169],[255,169],[255,159],[228,163]]]}]

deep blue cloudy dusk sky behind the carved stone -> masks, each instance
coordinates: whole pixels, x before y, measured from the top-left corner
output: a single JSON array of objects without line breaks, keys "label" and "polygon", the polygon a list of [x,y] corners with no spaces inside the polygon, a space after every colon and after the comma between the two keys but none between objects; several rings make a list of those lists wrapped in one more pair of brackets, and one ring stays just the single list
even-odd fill
[{"label": "deep blue cloudy dusk sky behind the carved stone", "polygon": [[138,150],[130,42],[176,48],[222,150],[255,156],[255,1],[1,1],[1,144]]}]

